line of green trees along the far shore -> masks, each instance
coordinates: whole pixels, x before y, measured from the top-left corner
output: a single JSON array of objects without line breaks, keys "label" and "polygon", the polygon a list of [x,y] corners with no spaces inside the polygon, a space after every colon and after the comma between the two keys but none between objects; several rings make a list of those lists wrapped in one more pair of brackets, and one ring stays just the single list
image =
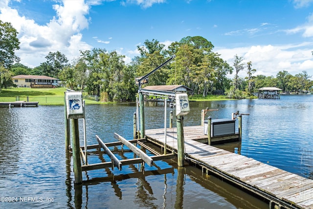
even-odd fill
[{"label": "line of green trees along the far shore", "polygon": [[[257,70],[252,68],[252,62],[244,63],[243,57],[238,55],[234,56],[231,66],[213,52],[213,44],[201,36],[187,36],[168,47],[155,39],[146,40],[142,46],[137,46],[140,55],[129,64],[125,63],[125,56],[116,51],[93,48],[81,50],[71,63],[60,51],[49,52],[44,63],[28,68],[15,56],[14,50],[19,49],[20,43],[10,23],[0,21],[0,35],[0,89],[14,86],[11,80],[14,75],[47,75],[58,78],[67,88],[97,95],[103,101],[134,100],[138,89],[134,78],[154,70],[173,55],[175,59],[149,76],[147,85],[185,85],[193,89],[194,94],[226,93],[233,98],[250,96],[265,86],[278,87],[285,92],[312,88],[311,76],[306,71],[294,76],[282,71],[276,78],[254,76]],[[244,78],[238,75],[243,70],[247,72]],[[233,71],[234,78],[228,78]]]}]

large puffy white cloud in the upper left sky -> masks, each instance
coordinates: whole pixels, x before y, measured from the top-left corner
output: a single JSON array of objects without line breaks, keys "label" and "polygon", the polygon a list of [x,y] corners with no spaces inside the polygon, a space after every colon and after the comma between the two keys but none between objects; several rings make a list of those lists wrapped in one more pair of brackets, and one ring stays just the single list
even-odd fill
[{"label": "large puffy white cloud in the upper left sky", "polygon": [[[60,51],[71,60],[79,55],[79,50],[90,49],[91,46],[82,41],[81,30],[88,28],[89,5],[84,1],[64,0],[54,4],[56,15],[45,25],[39,25],[16,9],[8,6],[9,0],[0,3],[0,19],[10,22],[19,32],[20,50],[16,55],[21,63],[28,67],[39,66],[45,62],[45,56],[51,51]],[[96,3],[96,1],[89,1]]]}]

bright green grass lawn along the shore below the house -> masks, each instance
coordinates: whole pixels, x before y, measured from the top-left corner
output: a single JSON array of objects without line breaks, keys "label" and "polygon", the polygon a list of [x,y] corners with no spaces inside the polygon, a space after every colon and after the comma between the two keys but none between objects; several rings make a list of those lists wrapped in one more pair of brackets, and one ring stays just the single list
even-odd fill
[{"label": "bright green grass lawn along the shore below the house", "polygon": [[[66,88],[31,89],[31,88],[10,88],[2,89],[0,102],[14,102],[16,100],[39,102],[39,105],[64,105],[64,93]],[[100,102],[85,99],[86,104],[99,104]]]}]

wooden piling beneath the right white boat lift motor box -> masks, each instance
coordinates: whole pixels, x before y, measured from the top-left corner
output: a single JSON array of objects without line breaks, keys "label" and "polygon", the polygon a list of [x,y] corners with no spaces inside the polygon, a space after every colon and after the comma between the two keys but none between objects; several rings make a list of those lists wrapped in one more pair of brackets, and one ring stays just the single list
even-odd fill
[{"label": "wooden piling beneath the right white boat lift motor box", "polygon": [[184,149],[184,131],[183,131],[183,116],[176,116],[176,127],[177,127],[177,163],[179,167],[184,166],[185,162],[185,149]]}]

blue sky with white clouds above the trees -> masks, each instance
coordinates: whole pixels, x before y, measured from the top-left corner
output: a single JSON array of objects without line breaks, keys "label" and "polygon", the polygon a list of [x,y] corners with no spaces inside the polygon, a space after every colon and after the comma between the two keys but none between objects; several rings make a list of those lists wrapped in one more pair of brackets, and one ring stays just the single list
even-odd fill
[{"label": "blue sky with white clouds above the trees", "polygon": [[251,62],[254,75],[313,75],[313,0],[0,0],[0,20],[19,32],[16,55],[30,68],[49,52],[72,62],[92,48],[130,63],[146,40],[201,36],[230,66],[235,55]]}]

